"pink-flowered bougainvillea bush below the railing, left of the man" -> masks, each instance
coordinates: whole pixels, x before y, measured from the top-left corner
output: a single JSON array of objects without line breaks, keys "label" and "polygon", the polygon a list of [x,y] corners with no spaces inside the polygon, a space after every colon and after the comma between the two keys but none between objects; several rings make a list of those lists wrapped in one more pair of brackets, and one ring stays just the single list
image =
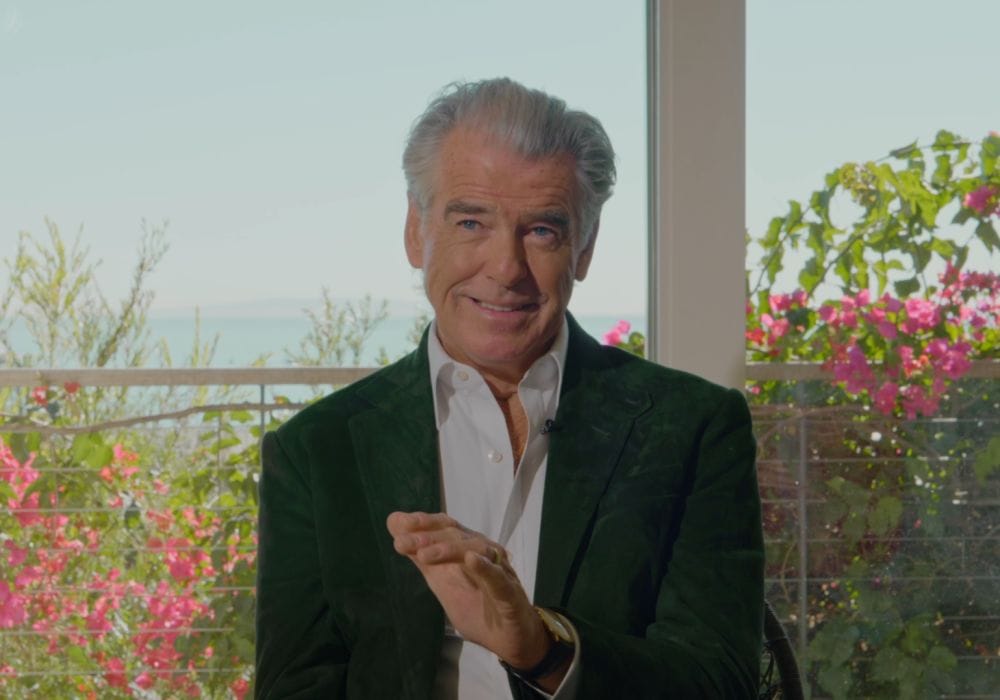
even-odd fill
[{"label": "pink-flowered bougainvillea bush below the railing, left of the man", "polygon": [[0,436],[0,695],[246,694],[252,463],[209,434],[184,469],[127,435]]}]

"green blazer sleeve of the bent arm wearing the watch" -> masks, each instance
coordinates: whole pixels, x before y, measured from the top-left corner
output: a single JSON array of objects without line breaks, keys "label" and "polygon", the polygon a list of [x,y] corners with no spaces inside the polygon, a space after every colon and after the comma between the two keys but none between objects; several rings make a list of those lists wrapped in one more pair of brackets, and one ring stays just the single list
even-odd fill
[{"label": "green blazer sleeve of the bent arm wearing the watch", "polygon": [[577,697],[757,697],[764,552],[755,456],[746,401],[730,390],[696,444],[645,636],[562,611],[580,638]]}]

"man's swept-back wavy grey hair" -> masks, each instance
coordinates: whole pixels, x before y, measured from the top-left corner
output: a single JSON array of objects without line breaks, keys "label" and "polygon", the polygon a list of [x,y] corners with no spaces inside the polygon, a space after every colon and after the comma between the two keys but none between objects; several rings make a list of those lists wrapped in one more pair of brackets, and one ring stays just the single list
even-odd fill
[{"label": "man's swept-back wavy grey hair", "polygon": [[582,244],[590,242],[616,177],[615,152],[597,119],[510,78],[446,86],[413,123],[403,151],[406,189],[421,208],[430,203],[430,173],[441,144],[460,125],[483,131],[531,160],[572,156]]}]

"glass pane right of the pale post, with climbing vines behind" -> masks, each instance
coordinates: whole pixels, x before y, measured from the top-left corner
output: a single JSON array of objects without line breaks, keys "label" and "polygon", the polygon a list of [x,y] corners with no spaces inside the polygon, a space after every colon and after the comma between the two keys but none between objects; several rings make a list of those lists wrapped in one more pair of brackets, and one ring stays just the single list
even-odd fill
[{"label": "glass pane right of the pale post, with climbing vines behind", "polygon": [[768,597],[814,697],[996,692],[998,21],[748,3]]}]

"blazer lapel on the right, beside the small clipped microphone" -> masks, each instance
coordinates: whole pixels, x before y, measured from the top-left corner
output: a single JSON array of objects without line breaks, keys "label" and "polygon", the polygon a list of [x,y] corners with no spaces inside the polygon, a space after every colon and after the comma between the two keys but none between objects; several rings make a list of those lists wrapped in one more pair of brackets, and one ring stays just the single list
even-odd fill
[{"label": "blazer lapel on the right, beside the small clipped microphone", "polygon": [[587,529],[607,489],[636,417],[651,405],[645,392],[623,392],[598,346],[569,314],[569,349],[551,433],[534,601],[565,605]]}]

